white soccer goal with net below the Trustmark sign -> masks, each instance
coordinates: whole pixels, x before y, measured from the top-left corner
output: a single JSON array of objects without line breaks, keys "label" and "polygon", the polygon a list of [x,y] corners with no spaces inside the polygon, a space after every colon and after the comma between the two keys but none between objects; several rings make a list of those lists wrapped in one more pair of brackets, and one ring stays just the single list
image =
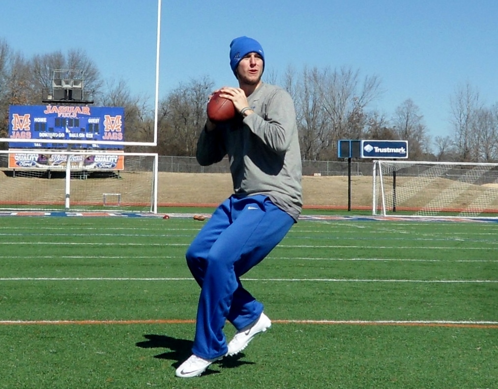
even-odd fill
[{"label": "white soccer goal with net below the Trustmark sign", "polygon": [[373,161],[373,215],[498,217],[498,164]]}]

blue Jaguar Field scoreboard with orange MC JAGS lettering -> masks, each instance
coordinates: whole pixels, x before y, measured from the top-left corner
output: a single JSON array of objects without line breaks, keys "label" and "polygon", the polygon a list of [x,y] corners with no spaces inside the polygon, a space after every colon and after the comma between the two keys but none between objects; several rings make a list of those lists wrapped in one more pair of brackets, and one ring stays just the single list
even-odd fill
[{"label": "blue Jaguar Field scoreboard with orange MC JAGS lettering", "polygon": [[[124,141],[124,108],[87,105],[10,105],[10,148],[64,149],[65,143],[41,143],[40,139],[79,140],[72,149],[117,149],[123,145],[98,145],[92,141]],[[16,142],[32,139],[33,142]]]}]

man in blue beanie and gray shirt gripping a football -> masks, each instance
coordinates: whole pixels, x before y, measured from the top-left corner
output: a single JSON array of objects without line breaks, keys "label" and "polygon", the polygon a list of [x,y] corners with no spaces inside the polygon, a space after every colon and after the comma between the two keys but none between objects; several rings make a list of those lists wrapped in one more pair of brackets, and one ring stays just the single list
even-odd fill
[{"label": "man in blue beanie and gray shirt gripping a football", "polygon": [[[232,41],[230,66],[239,88],[220,91],[233,101],[237,115],[222,123],[208,118],[197,143],[197,161],[208,166],[228,155],[234,194],[218,206],[186,253],[201,294],[193,354],[176,370],[178,377],[201,375],[271,326],[263,304],[244,289],[240,277],[283,239],[302,207],[291,97],[261,81],[264,53],[254,39]],[[237,329],[228,345],[223,333],[227,320]]]}]

